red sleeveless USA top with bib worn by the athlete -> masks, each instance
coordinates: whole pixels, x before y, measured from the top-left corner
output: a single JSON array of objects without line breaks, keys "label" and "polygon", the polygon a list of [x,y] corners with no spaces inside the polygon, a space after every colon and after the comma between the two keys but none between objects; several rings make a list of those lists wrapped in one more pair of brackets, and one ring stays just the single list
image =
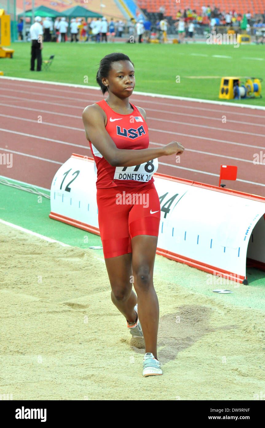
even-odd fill
[{"label": "red sleeveless USA top with bib worn by the athlete", "polygon": [[[149,146],[148,127],[145,119],[134,106],[129,114],[114,112],[104,100],[97,102],[107,115],[106,131],[118,149],[147,149]],[[154,182],[153,173],[157,171],[158,160],[153,159],[135,166],[111,166],[101,153],[89,141],[97,174],[96,188],[106,187],[141,187]]]}]

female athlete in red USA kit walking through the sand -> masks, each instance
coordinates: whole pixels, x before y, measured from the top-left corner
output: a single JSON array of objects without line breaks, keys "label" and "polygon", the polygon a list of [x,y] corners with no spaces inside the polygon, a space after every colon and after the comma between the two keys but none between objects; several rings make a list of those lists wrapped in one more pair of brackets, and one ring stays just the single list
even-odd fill
[{"label": "female athlete in red USA kit walking through the sand", "polygon": [[153,284],[160,200],[152,174],[157,158],[181,155],[184,147],[172,141],[148,149],[146,112],[129,102],[135,78],[127,55],[106,55],[96,81],[108,97],[87,106],[82,119],[97,169],[99,232],[111,300],[125,316],[132,336],[145,340],[143,376],[162,375],[157,359],[159,306]]}]

